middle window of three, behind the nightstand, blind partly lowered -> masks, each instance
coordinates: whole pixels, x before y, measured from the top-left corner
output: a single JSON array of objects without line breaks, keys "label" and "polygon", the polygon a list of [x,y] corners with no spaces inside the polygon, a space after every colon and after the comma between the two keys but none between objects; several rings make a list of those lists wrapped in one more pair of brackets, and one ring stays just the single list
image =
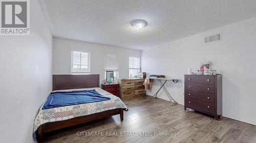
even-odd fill
[{"label": "middle window of three, behind the nightstand, blind partly lowered", "polygon": [[[105,71],[114,71],[114,78],[118,78],[118,56],[105,54]],[[106,78],[106,72],[105,72]]]}]

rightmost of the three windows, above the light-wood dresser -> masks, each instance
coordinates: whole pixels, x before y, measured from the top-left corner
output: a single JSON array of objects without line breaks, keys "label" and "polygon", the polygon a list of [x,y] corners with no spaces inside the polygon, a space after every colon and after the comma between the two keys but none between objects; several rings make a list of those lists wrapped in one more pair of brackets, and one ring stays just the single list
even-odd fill
[{"label": "rightmost of the three windows, above the light-wood dresser", "polygon": [[139,77],[140,58],[129,57],[129,77]]}]

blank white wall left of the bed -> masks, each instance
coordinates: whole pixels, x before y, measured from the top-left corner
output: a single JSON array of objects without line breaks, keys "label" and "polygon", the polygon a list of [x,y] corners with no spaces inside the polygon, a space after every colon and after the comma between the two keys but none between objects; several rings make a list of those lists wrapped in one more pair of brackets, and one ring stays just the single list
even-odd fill
[{"label": "blank white wall left of the bed", "polygon": [[33,122],[52,84],[52,35],[30,1],[30,36],[0,36],[0,142],[32,142]]}]

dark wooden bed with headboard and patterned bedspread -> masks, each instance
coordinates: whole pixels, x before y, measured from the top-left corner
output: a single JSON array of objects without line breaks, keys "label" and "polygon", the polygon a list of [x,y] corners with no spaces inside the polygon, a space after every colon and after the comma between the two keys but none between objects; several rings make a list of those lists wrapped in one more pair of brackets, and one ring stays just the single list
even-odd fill
[{"label": "dark wooden bed with headboard and patterned bedspread", "polygon": [[46,132],[111,117],[113,115],[120,115],[120,120],[123,120],[123,110],[128,110],[120,98],[99,88],[99,74],[53,75],[52,86],[52,93],[95,90],[110,99],[42,109],[47,102],[46,100],[40,107],[34,121],[33,138],[35,142],[42,142],[43,134]]}]

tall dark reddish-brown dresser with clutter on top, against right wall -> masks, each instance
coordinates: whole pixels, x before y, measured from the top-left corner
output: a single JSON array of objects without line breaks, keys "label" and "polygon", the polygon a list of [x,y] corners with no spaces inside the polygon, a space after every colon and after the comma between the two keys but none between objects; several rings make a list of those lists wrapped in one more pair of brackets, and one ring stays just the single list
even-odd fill
[{"label": "tall dark reddish-brown dresser with clutter on top, against right wall", "polygon": [[222,115],[222,75],[185,75],[184,108]]}]

